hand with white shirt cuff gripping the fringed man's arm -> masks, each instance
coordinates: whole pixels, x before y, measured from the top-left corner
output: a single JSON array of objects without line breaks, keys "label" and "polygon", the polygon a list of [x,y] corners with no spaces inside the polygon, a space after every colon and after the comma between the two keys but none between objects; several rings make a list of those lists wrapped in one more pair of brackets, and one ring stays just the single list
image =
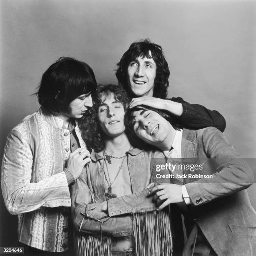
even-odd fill
[{"label": "hand with white shirt cuff gripping the fringed man's arm", "polygon": [[162,210],[169,204],[183,202],[182,186],[177,184],[162,183],[156,185],[149,195],[154,195],[154,200],[157,205],[160,205],[157,210]]}]

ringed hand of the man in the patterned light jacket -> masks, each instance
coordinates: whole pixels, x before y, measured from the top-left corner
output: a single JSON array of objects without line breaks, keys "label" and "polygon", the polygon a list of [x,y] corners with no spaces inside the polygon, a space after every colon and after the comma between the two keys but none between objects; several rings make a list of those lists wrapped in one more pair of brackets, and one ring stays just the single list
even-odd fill
[{"label": "ringed hand of the man in the patterned light jacket", "polygon": [[90,161],[90,152],[84,148],[77,148],[69,155],[67,169],[73,174],[74,178],[77,179],[80,176],[84,165]]}]

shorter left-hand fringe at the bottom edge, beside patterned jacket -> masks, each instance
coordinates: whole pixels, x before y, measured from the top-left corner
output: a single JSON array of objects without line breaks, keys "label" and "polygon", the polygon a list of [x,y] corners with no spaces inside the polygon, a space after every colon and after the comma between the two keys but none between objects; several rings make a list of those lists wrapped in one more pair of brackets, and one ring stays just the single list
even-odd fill
[{"label": "shorter left-hand fringe at the bottom edge, beside patterned jacket", "polygon": [[111,256],[111,238],[74,233],[74,250],[76,256]]}]

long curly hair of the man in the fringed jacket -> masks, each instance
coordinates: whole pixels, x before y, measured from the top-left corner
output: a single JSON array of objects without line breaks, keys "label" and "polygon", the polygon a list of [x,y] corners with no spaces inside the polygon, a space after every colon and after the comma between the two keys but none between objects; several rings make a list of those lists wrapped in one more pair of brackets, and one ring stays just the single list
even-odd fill
[{"label": "long curly hair of the man in the fringed jacket", "polygon": [[103,150],[105,143],[105,134],[100,128],[97,113],[102,100],[105,97],[114,95],[115,100],[123,104],[123,108],[126,111],[127,106],[130,102],[130,98],[127,92],[116,84],[99,84],[96,89],[97,97],[95,104],[87,113],[84,114],[83,118],[79,120],[79,128],[81,130],[82,138],[86,143],[88,149],[92,148],[96,152]]}]

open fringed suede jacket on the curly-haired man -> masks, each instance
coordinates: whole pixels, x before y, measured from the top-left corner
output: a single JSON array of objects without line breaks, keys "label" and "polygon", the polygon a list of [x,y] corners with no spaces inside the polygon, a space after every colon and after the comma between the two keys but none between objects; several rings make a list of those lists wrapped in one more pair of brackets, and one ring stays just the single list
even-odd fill
[{"label": "open fringed suede jacket on the curly-haired man", "polygon": [[[127,153],[132,192],[139,195],[150,182],[154,172],[151,159],[164,158],[159,151],[143,151],[133,148]],[[95,203],[105,201],[105,174],[103,158],[92,152],[92,162],[84,168],[79,179],[71,187],[74,247],[77,255],[111,255],[111,236],[134,236],[136,255],[172,255],[172,234],[169,209],[156,211],[152,197],[148,204],[133,214],[108,217],[93,210]],[[144,190],[145,192],[145,190]],[[143,193],[143,192],[141,192]],[[142,205],[142,204],[141,204]],[[118,205],[117,205],[118,206]],[[120,205],[119,205],[120,206]],[[129,206],[127,207],[127,212]],[[168,208],[168,207],[166,207]],[[144,211],[146,209],[146,211]]]}]

